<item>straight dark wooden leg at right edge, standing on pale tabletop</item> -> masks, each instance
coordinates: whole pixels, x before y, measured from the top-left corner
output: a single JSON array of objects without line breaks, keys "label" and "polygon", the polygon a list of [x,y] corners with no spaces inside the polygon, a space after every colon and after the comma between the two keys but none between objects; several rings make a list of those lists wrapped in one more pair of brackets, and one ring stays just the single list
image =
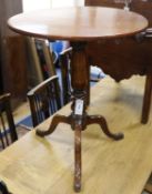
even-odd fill
[{"label": "straight dark wooden leg at right edge, standing on pale tabletop", "polygon": [[149,120],[151,94],[152,94],[152,75],[146,75],[143,105],[142,105],[142,118],[141,118],[141,123],[143,124],[146,124]]}]

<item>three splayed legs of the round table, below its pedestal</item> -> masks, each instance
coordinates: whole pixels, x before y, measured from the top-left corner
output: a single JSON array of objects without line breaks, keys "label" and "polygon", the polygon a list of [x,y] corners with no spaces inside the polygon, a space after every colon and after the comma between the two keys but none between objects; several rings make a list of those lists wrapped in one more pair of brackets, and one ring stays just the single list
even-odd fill
[{"label": "three splayed legs of the round table, below its pedestal", "polygon": [[123,139],[123,134],[110,132],[107,121],[103,116],[88,115],[87,113],[83,115],[71,114],[69,116],[57,114],[52,119],[52,122],[48,131],[41,131],[38,129],[36,133],[39,136],[49,135],[55,130],[55,126],[59,123],[70,124],[72,130],[74,131],[74,157],[75,157],[74,159],[74,163],[75,163],[74,164],[74,191],[80,192],[81,191],[81,131],[85,130],[87,125],[89,124],[99,124],[103,133],[115,141]]}]

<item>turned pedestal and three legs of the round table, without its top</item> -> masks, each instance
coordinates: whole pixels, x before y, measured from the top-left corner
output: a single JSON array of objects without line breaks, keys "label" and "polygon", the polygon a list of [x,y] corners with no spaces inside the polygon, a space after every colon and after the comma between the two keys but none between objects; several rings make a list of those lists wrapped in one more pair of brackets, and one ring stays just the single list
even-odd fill
[{"label": "turned pedestal and three legs of the round table, without its top", "polygon": [[89,105],[89,63],[85,55],[85,42],[72,43],[71,78],[73,88],[72,113],[69,116],[54,115],[48,131],[37,130],[40,136],[49,135],[55,126],[62,122],[68,123],[74,130],[74,191],[81,190],[81,131],[89,124],[99,124],[105,135],[113,140],[123,139],[122,133],[110,132],[107,121],[101,115],[88,115],[87,106]]}]

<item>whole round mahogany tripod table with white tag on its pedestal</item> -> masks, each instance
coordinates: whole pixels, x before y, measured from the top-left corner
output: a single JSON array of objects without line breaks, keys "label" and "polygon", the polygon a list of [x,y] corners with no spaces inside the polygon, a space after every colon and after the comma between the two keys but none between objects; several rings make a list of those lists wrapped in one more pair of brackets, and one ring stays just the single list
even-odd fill
[{"label": "whole round mahogany tripod table with white tag on its pedestal", "polygon": [[13,31],[49,40],[69,40],[72,51],[72,113],[69,116],[54,115],[47,131],[37,130],[40,136],[49,135],[60,123],[68,123],[74,131],[74,190],[81,190],[81,131],[89,124],[99,124],[109,137],[123,139],[123,134],[110,132],[101,115],[88,115],[89,105],[89,62],[85,45],[89,41],[132,35],[144,30],[148,21],[144,17],[125,10],[81,7],[21,13],[9,19]]}]

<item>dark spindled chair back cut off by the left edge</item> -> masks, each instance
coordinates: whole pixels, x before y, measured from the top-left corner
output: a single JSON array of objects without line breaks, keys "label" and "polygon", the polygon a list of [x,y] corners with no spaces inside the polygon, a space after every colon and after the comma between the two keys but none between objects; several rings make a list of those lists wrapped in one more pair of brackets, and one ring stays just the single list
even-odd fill
[{"label": "dark spindled chair back cut off by the left edge", "polygon": [[16,125],[10,105],[10,94],[0,95],[0,142],[1,149],[6,149],[18,140]]}]

